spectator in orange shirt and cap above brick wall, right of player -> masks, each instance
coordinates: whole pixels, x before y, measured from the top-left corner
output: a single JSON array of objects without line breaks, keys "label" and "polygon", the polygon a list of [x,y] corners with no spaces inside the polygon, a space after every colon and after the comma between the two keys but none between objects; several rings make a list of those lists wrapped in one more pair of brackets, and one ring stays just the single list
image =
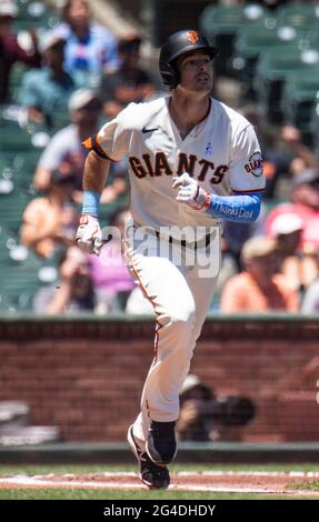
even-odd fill
[{"label": "spectator in orange shirt and cap above brick wall, right of player", "polygon": [[278,247],[272,238],[249,239],[241,251],[245,271],[228,280],[221,295],[221,311],[298,311],[298,294],[278,274]]}]

